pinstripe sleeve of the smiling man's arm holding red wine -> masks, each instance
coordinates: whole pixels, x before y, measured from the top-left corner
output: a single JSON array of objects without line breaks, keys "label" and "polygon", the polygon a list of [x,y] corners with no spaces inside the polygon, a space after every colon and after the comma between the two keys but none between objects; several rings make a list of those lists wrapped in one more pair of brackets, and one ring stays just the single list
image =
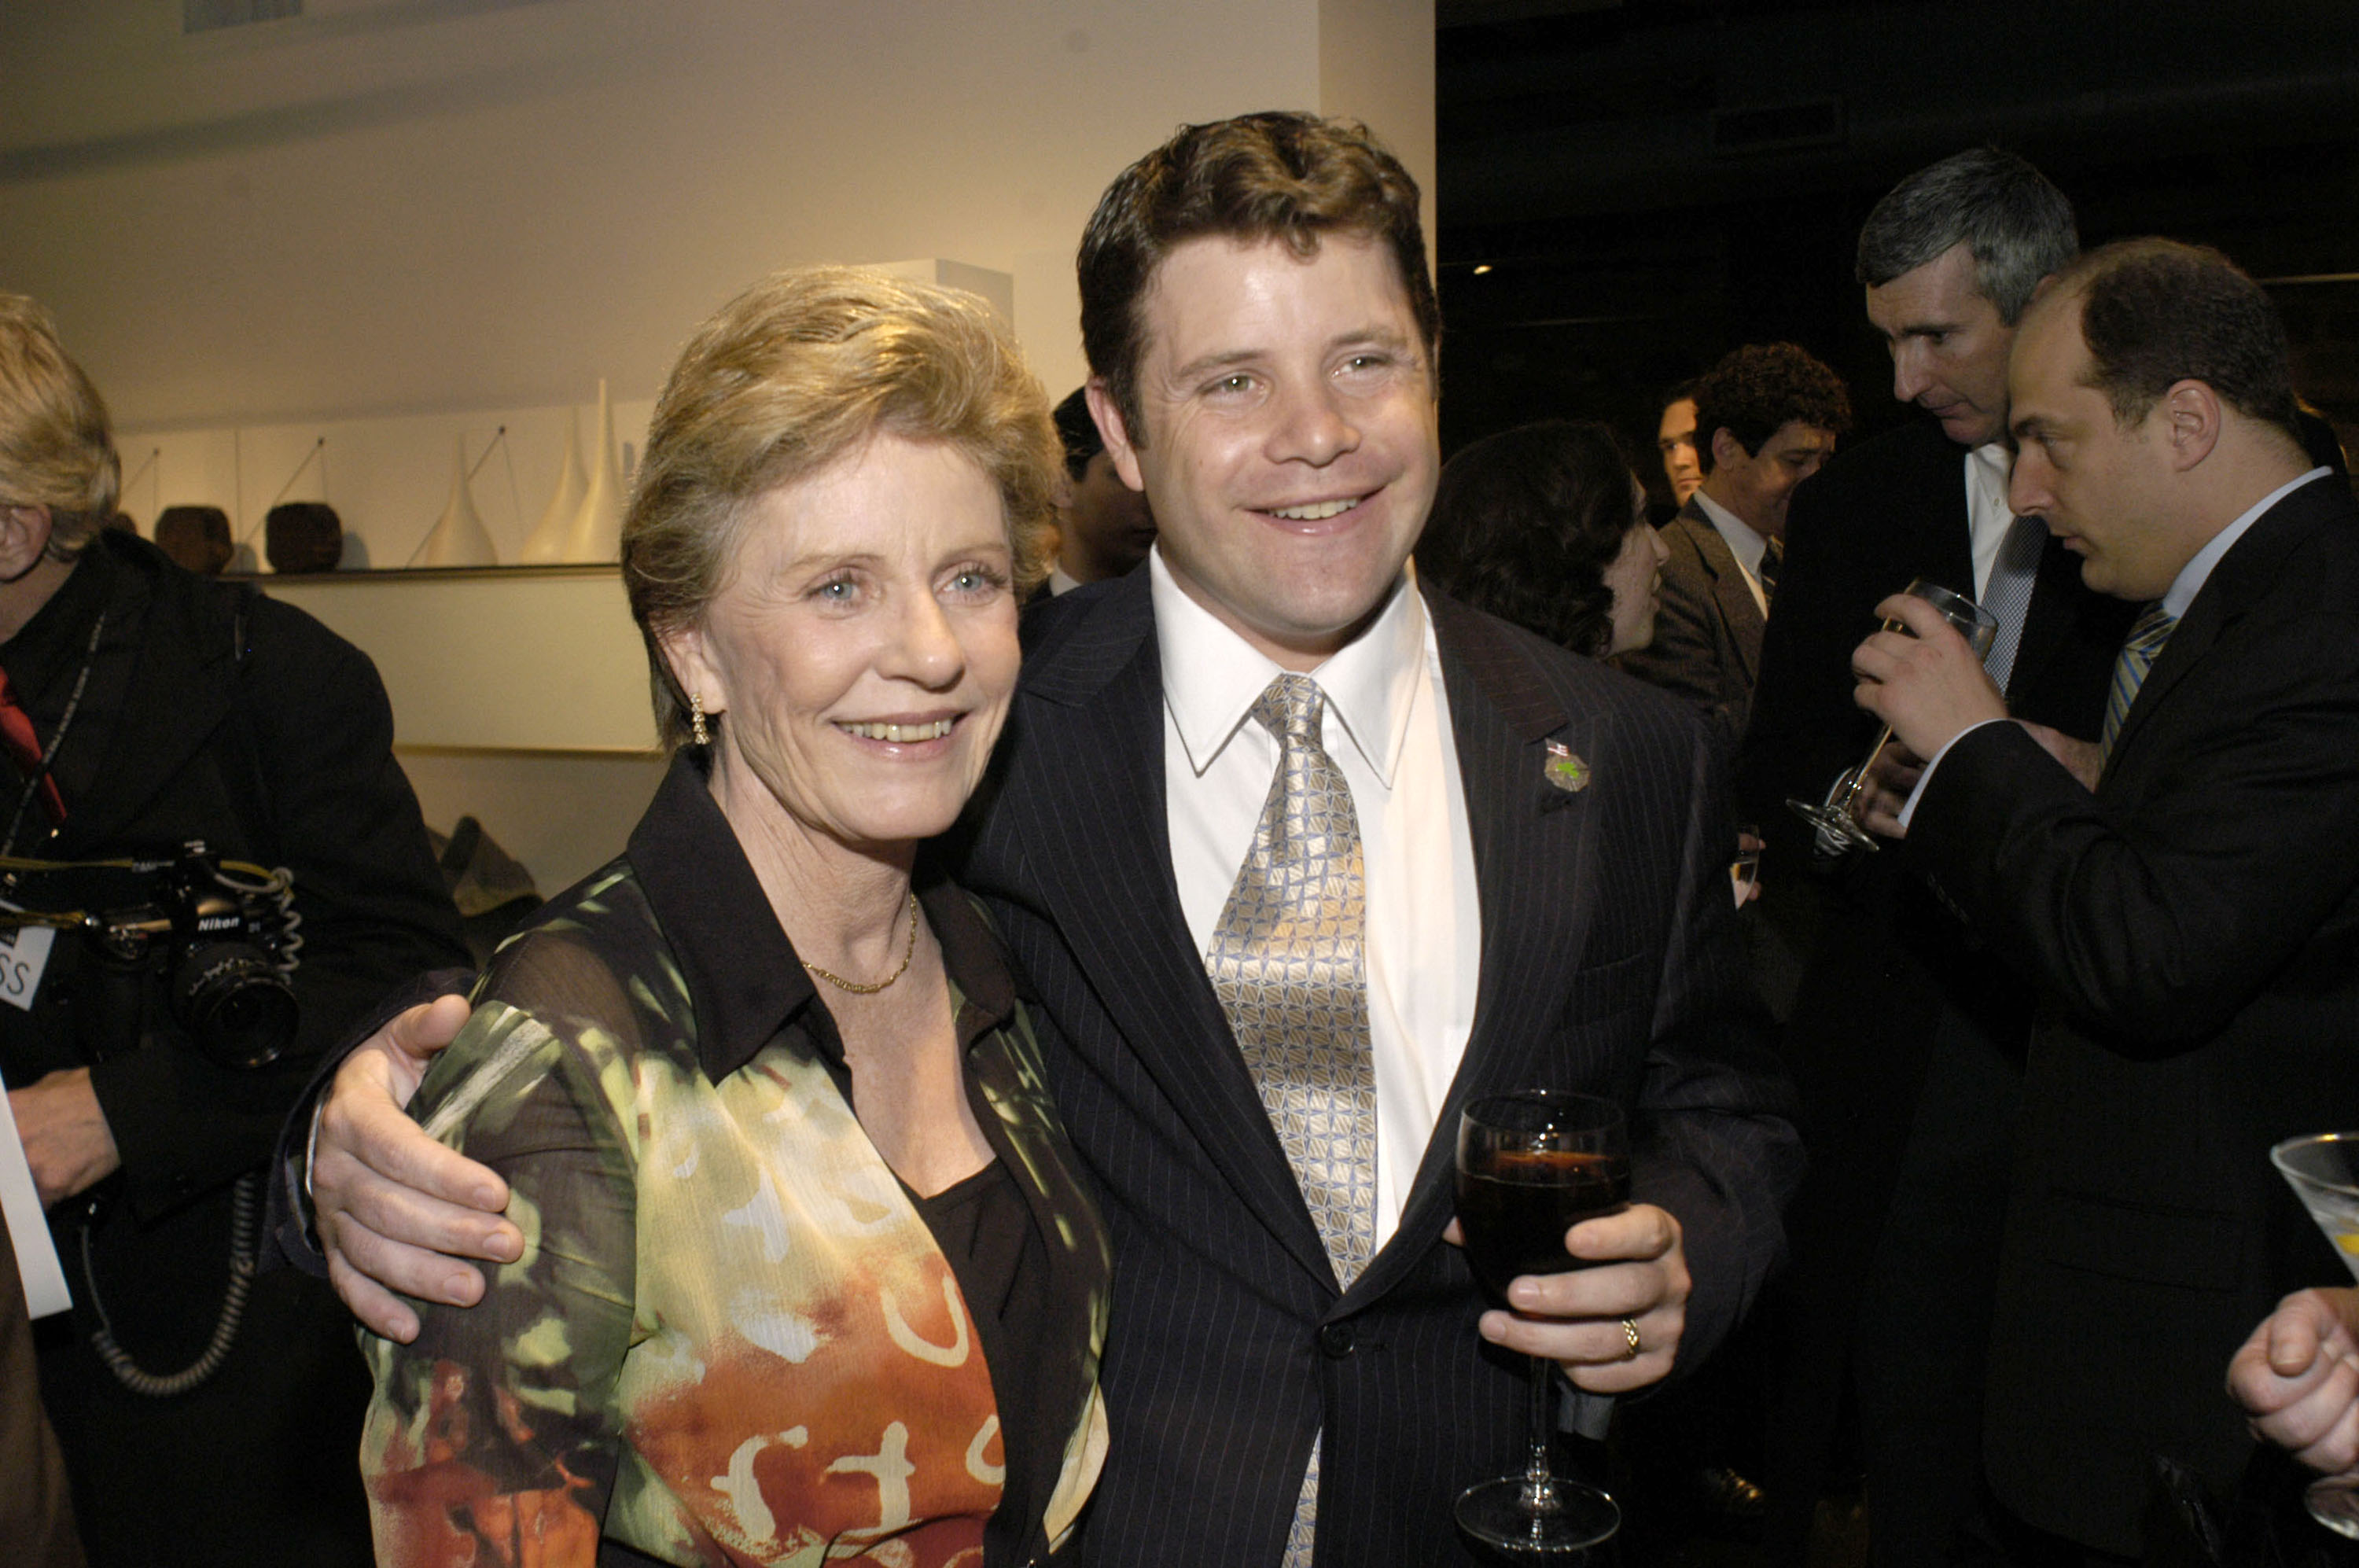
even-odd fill
[{"label": "pinstripe sleeve of the smiling man's arm holding red wine", "polygon": [[1682,1365],[1750,1311],[1783,1261],[1783,1212],[1802,1181],[1793,1087],[1743,974],[1729,846],[1736,828],[1717,752],[1694,747],[1675,924],[1656,988],[1654,1045],[1632,1118],[1632,1198],[1682,1231],[1694,1290]]}]

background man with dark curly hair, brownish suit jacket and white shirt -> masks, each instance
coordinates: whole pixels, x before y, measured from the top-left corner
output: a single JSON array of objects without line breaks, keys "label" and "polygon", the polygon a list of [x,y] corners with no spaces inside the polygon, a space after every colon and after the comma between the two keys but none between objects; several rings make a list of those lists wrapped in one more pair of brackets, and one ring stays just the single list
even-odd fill
[{"label": "background man with dark curly hair, brownish suit jacket and white shirt", "polygon": [[1616,663],[1687,698],[1732,750],[1753,710],[1786,507],[1849,424],[1842,377],[1790,342],[1746,344],[1696,380],[1703,486],[1663,526],[1654,641]]}]

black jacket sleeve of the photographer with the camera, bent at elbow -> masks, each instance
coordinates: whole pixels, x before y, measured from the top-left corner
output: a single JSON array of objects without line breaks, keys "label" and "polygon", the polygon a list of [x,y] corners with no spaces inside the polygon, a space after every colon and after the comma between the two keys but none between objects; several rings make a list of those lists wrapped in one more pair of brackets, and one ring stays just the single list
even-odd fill
[{"label": "black jacket sleeve of the photographer with the camera, bent at elbow", "polygon": [[288,606],[252,606],[236,672],[245,738],[217,740],[224,778],[250,790],[274,865],[295,877],[302,950],[295,1047],[255,1073],[191,1049],[127,1052],[92,1087],[142,1212],[264,1162],[318,1054],[403,976],[462,964],[458,910],[394,762],[394,714],[375,665]]}]

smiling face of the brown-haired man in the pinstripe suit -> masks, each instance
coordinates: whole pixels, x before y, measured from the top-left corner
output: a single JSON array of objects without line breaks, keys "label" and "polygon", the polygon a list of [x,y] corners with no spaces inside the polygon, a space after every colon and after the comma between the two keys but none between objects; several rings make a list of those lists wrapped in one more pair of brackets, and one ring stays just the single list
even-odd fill
[{"label": "smiling face of the brown-haired man in the pinstripe suit", "polygon": [[1349,233],[1309,257],[1196,238],[1163,257],[1139,314],[1144,429],[1125,431],[1092,382],[1106,450],[1144,486],[1180,589],[1309,670],[1382,608],[1441,472],[1399,266]]}]

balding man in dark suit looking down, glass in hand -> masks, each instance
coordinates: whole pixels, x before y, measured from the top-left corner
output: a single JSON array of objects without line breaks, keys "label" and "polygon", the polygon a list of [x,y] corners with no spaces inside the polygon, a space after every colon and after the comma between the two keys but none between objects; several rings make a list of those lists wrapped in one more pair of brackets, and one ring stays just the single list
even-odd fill
[{"label": "balding man in dark suit looking down, glass in hand", "polygon": [[1991,1332],[1986,1467],[2031,1528],[2142,1551],[2154,1457],[2215,1485],[2220,1368],[2335,1269],[2269,1146],[2359,1115],[2359,509],[2302,453],[2284,328],[2215,250],[2128,241],[2017,335],[2010,500],[2142,606],[2104,717],[2008,707],[1939,615],[1859,646],[1918,757],[1873,821],[2043,1007]]}]

